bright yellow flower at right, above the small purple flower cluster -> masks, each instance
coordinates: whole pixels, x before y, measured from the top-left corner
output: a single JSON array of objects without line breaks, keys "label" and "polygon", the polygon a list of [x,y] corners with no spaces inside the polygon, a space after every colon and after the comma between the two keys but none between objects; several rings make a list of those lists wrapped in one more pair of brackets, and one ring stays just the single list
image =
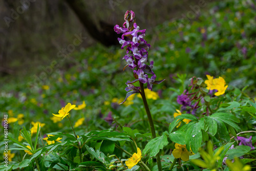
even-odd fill
[{"label": "bright yellow flower at right, above the small purple flower cluster", "polygon": [[206,89],[218,90],[218,92],[214,94],[216,96],[220,96],[225,93],[228,85],[225,86],[226,82],[222,77],[215,78],[215,79],[213,79],[214,77],[210,75],[206,75],[206,77],[208,78],[208,80],[204,81],[204,83],[206,83],[207,85]]}]

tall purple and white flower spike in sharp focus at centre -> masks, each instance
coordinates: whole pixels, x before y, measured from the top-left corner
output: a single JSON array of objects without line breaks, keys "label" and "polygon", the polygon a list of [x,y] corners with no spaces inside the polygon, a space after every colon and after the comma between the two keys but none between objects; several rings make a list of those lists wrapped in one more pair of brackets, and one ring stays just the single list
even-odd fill
[{"label": "tall purple and white flower spike in sharp focus at centre", "polygon": [[[127,62],[124,69],[126,67],[135,69],[133,71],[135,80],[132,82],[127,81],[125,90],[127,92],[130,90],[139,92],[140,87],[135,87],[132,84],[136,81],[147,83],[147,88],[152,90],[153,84],[159,84],[164,80],[155,80],[156,74],[152,71],[154,61],[151,61],[150,65],[146,65],[148,57],[147,50],[151,47],[144,39],[146,30],[140,30],[139,26],[135,23],[135,13],[133,11],[126,11],[124,20],[123,27],[116,25],[114,31],[117,34],[122,33],[121,38],[118,38],[119,43],[122,45],[121,49],[127,46],[126,55],[123,57]],[[147,74],[152,74],[151,78]]]}]

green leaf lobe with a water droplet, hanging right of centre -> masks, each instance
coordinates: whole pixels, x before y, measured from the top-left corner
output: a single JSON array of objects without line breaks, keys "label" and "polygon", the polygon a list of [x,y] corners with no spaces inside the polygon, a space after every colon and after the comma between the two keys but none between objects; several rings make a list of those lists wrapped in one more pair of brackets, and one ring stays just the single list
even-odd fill
[{"label": "green leaf lobe with a water droplet, hanging right of centre", "polygon": [[201,118],[198,123],[189,125],[186,132],[186,148],[190,151],[190,147],[193,153],[197,153],[202,143],[202,129],[204,127],[204,119]]}]

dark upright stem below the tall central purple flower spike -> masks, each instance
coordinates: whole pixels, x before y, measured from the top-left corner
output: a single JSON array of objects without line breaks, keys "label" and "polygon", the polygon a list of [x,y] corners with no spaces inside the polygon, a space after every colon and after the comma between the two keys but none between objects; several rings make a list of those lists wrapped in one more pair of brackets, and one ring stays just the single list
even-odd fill
[{"label": "dark upright stem below the tall central purple flower spike", "polygon": [[[140,81],[139,81],[140,82]],[[154,126],[154,122],[150,113],[150,108],[148,108],[148,104],[146,101],[146,96],[145,96],[145,92],[144,92],[144,84],[142,82],[140,82],[140,91],[141,91],[141,97],[144,103],[144,107],[146,110],[146,114],[147,114],[147,118],[148,121],[150,122],[150,128],[151,128],[151,134],[152,134],[152,139],[156,138],[156,130],[155,130],[155,126]],[[161,160],[160,160],[160,155],[159,153],[156,155],[157,158],[157,166],[158,166],[158,170],[162,171],[162,165],[161,165]]]}]

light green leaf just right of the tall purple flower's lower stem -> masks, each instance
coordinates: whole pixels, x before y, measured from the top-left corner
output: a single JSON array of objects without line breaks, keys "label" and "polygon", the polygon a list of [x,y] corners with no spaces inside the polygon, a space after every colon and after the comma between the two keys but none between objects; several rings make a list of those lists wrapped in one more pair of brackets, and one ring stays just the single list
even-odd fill
[{"label": "light green leaf just right of the tall purple flower's lower stem", "polygon": [[164,145],[168,144],[168,140],[165,134],[160,137],[156,137],[150,142],[148,142],[142,151],[142,156],[144,156],[148,151],[150,151],[150,157],[155,157],[160,149],[163,149]]}]

